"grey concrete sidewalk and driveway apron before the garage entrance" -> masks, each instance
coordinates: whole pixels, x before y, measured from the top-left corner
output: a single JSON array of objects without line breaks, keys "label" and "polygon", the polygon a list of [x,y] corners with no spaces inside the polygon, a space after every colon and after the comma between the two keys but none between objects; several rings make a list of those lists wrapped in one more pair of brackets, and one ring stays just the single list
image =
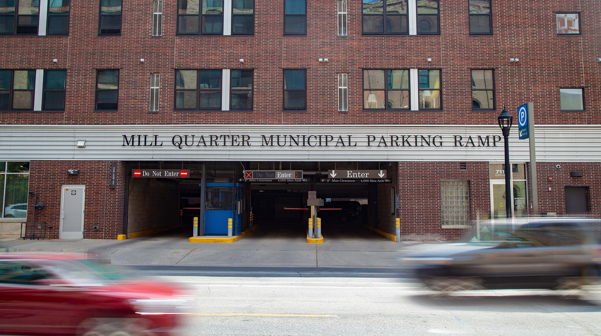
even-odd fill
[{"label": "grey concrete sidewalk and driveway apron before the garage entrance", "polygon": [[308,244],[302,232],[258,227],[233,243],[188,242],[189,232],[162,232],[123,241],[106,239],[14,239],[0,242],[9,252],[94,253],[120,265],[367,267],[398,268],[410,245],[367,229],[323,232],[323,244]]}]

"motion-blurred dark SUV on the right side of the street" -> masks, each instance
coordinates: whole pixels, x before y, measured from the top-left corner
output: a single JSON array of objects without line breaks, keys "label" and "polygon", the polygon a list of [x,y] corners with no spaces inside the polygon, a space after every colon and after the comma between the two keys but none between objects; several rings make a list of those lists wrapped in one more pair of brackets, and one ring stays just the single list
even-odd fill
[{"label": "motion-blurred dark SUV on the right side of the street", "polygon": [[465,243],[439,244],[401,260],[427,287],[443,293],[578,289],[599,280],[599,226],[584,218],[495,220],[478,224]]}]

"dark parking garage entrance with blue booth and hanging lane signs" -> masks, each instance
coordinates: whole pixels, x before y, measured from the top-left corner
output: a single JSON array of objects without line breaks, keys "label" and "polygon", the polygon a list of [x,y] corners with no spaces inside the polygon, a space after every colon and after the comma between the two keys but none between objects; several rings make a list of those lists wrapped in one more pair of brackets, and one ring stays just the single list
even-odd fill
[{"label": "dark parking garage entrance with blue booth and hanging lane signs", "polygon": [[[144,230],[165,229],[181,232],[182,238],[225,236],[231,218],[233,235],[259,226],[261,231],[304,236],[311,216],[310,199],[323,202],[315,209],[324,235],[363,232],[365,226],[380,224],[378,200],[391,197],[386,190],[394,180],[387,177],[394,172],[383,168],[391,166],[377,162],[132,161],[126,184],[127,233],[136,236]],[[269,175],[278,172],[284,175]],[[366,177],[368,172],[379,172],[379,176]],[[351,173],[358,175],[347,178]],[[194,226],[195,218],[198,226]]]}]

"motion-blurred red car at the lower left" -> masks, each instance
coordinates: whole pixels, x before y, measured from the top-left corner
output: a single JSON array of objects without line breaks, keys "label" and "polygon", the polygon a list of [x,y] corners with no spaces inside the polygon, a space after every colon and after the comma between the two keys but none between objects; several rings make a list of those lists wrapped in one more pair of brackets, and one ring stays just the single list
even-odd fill
[{"label": "motion-blurred red car at the lower left", "polygon": [[65,254],[0,254],[0,334],[175,335],[188,303],[183,288],[107,266]]}]

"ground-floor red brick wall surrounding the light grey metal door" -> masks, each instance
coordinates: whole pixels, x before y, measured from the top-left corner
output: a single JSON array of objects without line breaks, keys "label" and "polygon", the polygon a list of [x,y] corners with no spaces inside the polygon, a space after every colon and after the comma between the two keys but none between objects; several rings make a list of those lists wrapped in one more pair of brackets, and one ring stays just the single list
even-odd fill
[{"label": "ground-floor red brick wall surrounding the light grey metal door", "polygon": [[[109,184],[109,161],[31,161],[29,190],[38,194],[44,209],[37,210],[35,221],[46,222],[47,238],[59,238],[61,187],[64,184],[85,185],[84,238],[115,239],[123,233],[123,201],[125,164],[117,165],[117,188]],[[79,169],[79,175],[67,175],[67,169]],[[27,221],[33,220],[34,197],[29,197]],[[98,230],[93,227],[98,226]]]}]

